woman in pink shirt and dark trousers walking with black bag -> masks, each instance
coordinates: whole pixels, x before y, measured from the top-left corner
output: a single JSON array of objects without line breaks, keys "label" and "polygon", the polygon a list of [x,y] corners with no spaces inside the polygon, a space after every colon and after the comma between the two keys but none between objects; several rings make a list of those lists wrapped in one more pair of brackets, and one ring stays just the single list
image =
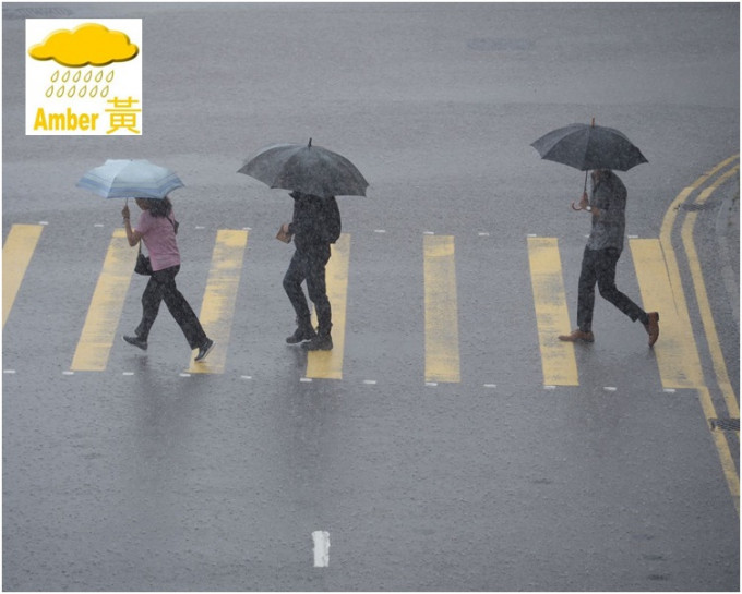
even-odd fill
[{"label": "woman in pink shirt and dark trousers walking with black bag", "polygon": [[134,336],[124,336],[123,340],[146,351],[149,329],[164,301],[185,335],[191,350],[199,349],[195,361],[203,361],[214,348],[214,341],[206,336],[195,313],[176,287],[180,252],[176,242],[178,223],[170,198],[136,198],[136,206],[142,209],[136,229],[131,228],[129,206],[121,210],[127,239],[132,247],[144,241],[153,272],[142,295],[142,322],[134,330]]}]

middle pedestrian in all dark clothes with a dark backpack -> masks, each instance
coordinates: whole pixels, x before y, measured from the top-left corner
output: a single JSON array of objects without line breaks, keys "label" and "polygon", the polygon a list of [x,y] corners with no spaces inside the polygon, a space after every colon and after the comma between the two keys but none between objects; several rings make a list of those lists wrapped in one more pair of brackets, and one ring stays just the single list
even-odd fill
[{"label": "middle pedestrian in all dark clothes with a dark backpack", "polygon": [[[297,316],[297,329],[286,339],[310,351],[330,351],[333,348],[332,308],[325,284],[325,266],[330,260],[330,244],[340,235],[340,211],[334,196],[320,197],[300,192],[294,198],[294,218],[282,231],[292,237],[296,252],[284,276],[284,289]],[[316,331],[312,328],[309,305],[301,289],[307,281],[309,299],[314,304]]]}]

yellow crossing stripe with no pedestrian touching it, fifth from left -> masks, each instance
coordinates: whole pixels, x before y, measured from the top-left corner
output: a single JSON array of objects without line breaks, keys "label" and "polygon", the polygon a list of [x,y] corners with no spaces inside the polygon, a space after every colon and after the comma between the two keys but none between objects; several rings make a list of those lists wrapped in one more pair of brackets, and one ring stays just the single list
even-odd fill
[{"label": "yellow crossing stripe with no pedestrian touching it, fifth from left", "polygon": [[423,237],[426,381],[460,381],[453,235]]}]

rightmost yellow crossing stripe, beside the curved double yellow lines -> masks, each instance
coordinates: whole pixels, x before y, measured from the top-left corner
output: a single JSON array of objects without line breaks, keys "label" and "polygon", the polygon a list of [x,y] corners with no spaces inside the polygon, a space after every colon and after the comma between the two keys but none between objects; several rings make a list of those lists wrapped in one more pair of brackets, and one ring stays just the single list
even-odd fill
[{"label": "rightmost yellow crossing stripe, beside the curved double yellow lines", "polygon": [[629,240],[634,268],[647,312],[660,313],[660,338],[655,344],[662,387],[698,388],[704,377],[685,298],[673,289],[660,241]]}]

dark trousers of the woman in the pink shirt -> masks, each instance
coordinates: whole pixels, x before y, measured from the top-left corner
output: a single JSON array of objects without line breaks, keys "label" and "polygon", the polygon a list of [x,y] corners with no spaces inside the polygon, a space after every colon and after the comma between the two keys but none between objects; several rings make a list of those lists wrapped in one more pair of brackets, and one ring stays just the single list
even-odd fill
[{"label": "dark trousers of the woman in the pink shirt", "polygon": [[179,270],[180,266],[172,266],[157,270],[149,277],[149,282],[147,282],[142,295],[142,322],[134,331],[137,337],[147,340],[152,325],[157,318],[159,304],[164,301],[183,335],[185,335],[185,340],[188,340],[191,349],[198,349],[206,342],[206,334],[188,301],[176,287],[176,275]]}]

